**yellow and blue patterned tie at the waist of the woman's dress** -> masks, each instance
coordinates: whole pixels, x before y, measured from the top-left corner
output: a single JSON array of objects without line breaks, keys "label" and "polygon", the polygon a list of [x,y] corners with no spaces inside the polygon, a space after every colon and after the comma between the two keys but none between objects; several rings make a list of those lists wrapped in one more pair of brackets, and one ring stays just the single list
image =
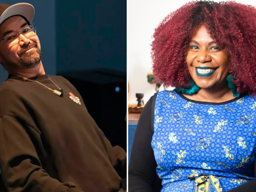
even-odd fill
[{"label": "yellow and blue patterned tie at the waist of the woman's dress", "polygon": [[193,192],[224,192],[219,183],[219,178],[213,175],[193,173],[188,179],[195,180]]}]

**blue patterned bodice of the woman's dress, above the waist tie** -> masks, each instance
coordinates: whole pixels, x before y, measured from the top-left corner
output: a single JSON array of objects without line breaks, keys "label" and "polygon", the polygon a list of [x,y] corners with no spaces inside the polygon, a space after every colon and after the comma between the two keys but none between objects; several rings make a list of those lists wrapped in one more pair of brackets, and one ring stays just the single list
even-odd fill
[{"label": "blue patterned bodice of the woman's dress, above the waist tie", "polygon": [[255,123],[252,99],[200,105],[160,95],[151,142],[158,169],[194,167],[253,174]]}]

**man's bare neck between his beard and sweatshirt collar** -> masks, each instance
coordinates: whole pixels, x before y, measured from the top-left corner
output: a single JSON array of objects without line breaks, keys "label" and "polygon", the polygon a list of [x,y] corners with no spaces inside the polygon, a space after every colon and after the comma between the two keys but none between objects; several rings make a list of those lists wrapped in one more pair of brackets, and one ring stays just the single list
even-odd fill
[{"label": "man's bare neck between his beard and sweatshirt collar", "polygon": [[23,77],[24,79],[28,79],[31,77],[37,77],[38,75],[45,74],[44,67],[43,67],[43,64],[41,61],[40,61],[39,65],[37,65],[36,67],[30,68],[30,69],[13,70],[9,73]]}]

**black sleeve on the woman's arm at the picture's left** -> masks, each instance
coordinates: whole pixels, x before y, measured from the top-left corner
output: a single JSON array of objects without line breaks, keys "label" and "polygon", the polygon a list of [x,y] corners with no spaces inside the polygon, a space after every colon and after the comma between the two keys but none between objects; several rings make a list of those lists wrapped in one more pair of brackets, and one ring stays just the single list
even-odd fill
[{"label": "black sleeve on the woman's arm at the picture's left", "polygon": [[155,98],[156,94],[145,105],[135,130],[128,168],[129,192],[153,192],[162,188],[161,180],[156,174],[157,163],[151,147]]}]

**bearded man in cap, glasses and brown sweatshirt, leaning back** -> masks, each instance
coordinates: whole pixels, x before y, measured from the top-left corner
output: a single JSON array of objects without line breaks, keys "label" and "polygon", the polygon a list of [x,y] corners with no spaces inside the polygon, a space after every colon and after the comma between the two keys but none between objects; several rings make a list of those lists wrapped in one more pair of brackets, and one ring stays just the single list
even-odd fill
[{"label": "bearded man in cap, glasses and brown sweatshirt, leaning back", "polygon": [[0,4],[0,169],[8,191],[90,192],[124,187],[126,153],[112,147],[75,87],[41,62],[34,7]]}]

